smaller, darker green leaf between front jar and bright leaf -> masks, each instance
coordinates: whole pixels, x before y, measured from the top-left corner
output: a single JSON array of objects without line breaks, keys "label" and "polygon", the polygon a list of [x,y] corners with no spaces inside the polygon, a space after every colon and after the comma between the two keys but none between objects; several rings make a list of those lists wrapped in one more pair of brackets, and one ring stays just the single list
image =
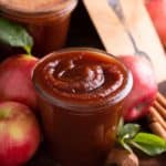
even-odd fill
[{"label": "smaller, darker green leaf between front jar and bright leaf", "polygon": [[141,126],[138,124],[125,124],[121,129],[118,131],[117,136],[120,138],[133,138],[139,131]]}]

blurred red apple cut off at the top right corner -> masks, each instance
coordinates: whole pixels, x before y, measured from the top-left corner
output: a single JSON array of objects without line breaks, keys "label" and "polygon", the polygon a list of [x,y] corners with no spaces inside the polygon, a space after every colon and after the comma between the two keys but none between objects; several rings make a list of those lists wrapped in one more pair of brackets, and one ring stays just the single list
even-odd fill
[{"label": "blurred red apple cut off at the top right corner", "polygon": [[166,46],[166,0],[145,0],[145,6],[160,41]]}]

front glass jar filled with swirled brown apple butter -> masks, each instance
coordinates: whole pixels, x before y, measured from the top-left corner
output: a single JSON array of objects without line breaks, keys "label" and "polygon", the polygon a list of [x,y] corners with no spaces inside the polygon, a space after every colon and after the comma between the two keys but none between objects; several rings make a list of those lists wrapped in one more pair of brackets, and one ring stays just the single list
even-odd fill
[{"label": "front glass jar filled with swirled brown apple butter", "polygon": [[41,59],[33,84],[53,157],[62,166],[102,166],[115,143],[131,73],[113,55],[89,48]]}]

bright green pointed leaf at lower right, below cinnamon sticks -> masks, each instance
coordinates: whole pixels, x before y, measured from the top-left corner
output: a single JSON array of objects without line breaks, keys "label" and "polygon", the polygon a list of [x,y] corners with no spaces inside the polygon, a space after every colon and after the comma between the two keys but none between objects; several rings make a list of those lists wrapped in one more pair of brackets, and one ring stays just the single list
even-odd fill
[{"label": "bright green pointed leaf at lower right, below cinnamon sticks", "polygon": [[166,152],[166,141],[149,133],[138,133],[129,143],[149,156]]}]

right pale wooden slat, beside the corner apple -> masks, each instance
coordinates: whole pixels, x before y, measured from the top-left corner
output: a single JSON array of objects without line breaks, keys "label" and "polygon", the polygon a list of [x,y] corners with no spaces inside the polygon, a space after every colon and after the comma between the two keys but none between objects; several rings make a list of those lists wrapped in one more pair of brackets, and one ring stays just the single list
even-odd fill
[{"label": "right pale wooden slat, beside the corner apple", "polygon": [[137,45],[149,56],[158,82],[166,80],[166,55],[142,0],[122,0],[123,10]]}]

